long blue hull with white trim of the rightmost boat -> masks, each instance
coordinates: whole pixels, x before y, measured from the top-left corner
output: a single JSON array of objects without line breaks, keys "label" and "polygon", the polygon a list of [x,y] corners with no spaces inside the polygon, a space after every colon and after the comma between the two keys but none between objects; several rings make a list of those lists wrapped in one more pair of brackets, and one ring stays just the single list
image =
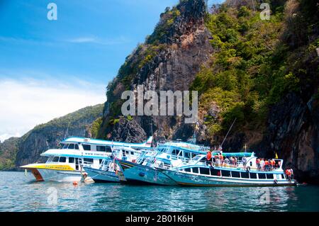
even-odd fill
[{"label": "long blue hull with white trim of the rightmost boat", "polygon": [[296,181],[286,179],[233,179],[225,176],[204,176],[181,171],[159,169],[170,179],[183,186],[295,186]]}]

